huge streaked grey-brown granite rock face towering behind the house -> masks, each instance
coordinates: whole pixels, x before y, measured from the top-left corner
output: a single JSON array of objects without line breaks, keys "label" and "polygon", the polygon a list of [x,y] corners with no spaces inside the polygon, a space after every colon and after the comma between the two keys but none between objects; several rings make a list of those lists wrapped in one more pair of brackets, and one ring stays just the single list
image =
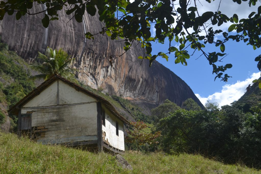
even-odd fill
[{"label": "huge streaked grey-brown granite rock face towering behind the house", "polygon": [[[42,10],[43,6],[32,9]],[[138,56],[143,55],[140,45],[134,46],[123,56],[123,42],[111,40],[105,34],[97,34],[94,40],[85,39],[84,33],[98,33],[104,26],[98,16],[85,14],[83,22],[78,23],[72,15],[59,14],[58,21],[51,21],[46,29],[41,24],[44,14],[22,16],[19,21],[15,15],[4,17],[0,21],[0,36],[19,56],[28,62],[34,62],[37,52],[44,52],[46,47],[63,48],[75,57],[74,68],[79,71],[77,77],[87,85],[104,92],[128,97],[134,103],[150,109],[169,99],[181,106],[187,98],[194,99],[201,107],[198,98],[191,88],[172,71],[158,62],[144,60],[141,63]],[[137,45],[137,46],[136,46]],[[109,58],[113,58],[111,67]]]}]

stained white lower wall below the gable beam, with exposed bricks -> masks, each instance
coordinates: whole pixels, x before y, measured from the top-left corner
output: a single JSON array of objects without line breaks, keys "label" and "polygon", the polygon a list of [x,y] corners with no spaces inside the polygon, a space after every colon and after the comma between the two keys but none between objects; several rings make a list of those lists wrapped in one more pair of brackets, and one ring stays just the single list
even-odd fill
[{"label": "stained white lower wall below the gable beam, with exposed bricks", "polygon": [[97,140],[97,104],[63,106],[48,109],[22,109],[32,113],[32,127],[45,126],[45,137],[37,142],[64,143]]}]

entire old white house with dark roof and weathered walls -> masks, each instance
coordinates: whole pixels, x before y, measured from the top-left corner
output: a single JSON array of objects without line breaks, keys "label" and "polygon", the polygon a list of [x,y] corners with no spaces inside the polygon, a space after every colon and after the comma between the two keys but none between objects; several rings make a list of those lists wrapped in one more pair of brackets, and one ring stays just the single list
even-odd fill
[{"label": "entire old white house with dark roof and weathered walls", "polygon": [[17,134],[43,144],[86,145],[124,152],[121,116],[109,101],[59,75],[26,95],[9,112],[18,115]]}]

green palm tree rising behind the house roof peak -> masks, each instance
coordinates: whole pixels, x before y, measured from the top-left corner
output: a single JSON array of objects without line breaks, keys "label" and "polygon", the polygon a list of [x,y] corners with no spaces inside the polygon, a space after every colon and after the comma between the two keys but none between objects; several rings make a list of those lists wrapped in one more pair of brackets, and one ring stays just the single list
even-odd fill
[{"label": "green palm tree rising behind the house roof peak", "polygon": [[76,81],[74,73],[77,69],[71,68],[74,58],[70,58],[63,49],[53,50],[47,47],[45,55],[38,52],[37,58],[42,60],[43,63],[40,65],[30,65],[30,67],[41,74],[32,76],[31,79],[46,80],[50,76],[58,74],[67,80]]}]

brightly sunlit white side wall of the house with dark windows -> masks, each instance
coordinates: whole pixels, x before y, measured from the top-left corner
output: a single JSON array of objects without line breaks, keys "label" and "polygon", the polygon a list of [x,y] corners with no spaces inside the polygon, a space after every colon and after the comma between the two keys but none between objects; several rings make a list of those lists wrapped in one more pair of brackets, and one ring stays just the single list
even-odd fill
[{"label": "brightly sunlit white side wall of the house with dark windows", "polygon": [[[105,110],[105,126],[102,125],[102,131],[105,131],[105,140],[111,146],[124,151],[124,134],[123,134],[123,122],[112,115],[108,109],[103,105],[102,108]],[[119,136],[116,135],[116,121],[119,123]]]}]

